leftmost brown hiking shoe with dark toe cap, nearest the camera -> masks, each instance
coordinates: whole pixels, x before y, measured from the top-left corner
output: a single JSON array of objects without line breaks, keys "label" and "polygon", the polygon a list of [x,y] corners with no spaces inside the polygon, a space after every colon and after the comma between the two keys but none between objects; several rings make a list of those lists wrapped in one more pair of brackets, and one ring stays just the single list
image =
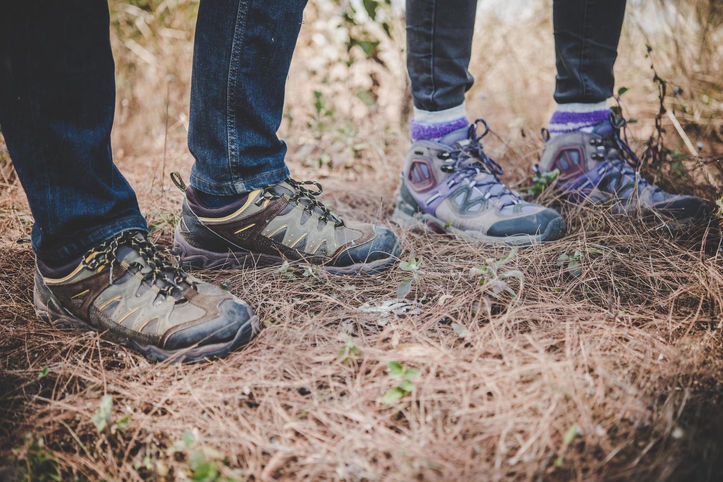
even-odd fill
[{"label": "leftmost brown hiking shoe with dark toe cap, nearest the camera", "polygon": [[187,275],[167,254],[124,231],[67,275],[38,260],[35,311],[56,328],[101,332],[150,361],[200,361],[249,343],[258,324],[251,307]]}]

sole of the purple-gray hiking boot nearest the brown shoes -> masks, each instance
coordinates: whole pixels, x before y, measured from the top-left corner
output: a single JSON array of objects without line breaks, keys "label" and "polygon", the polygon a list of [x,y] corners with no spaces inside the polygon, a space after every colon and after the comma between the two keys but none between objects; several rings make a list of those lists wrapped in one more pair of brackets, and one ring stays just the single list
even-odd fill
[{"label": "sole of the purple-gray hiking boot nearest the brown shoes", "polygon": [[[413,214],[410,214],[410,212]],[[479,231],[464,231],[453,226],[448,226],[447,223],[435,218],[435,216],[414,210],[413,206],[408,205],[402,200],[398,200],[397,202],[397,207],[392,215],[392,222],[399,226],[412,228],[413,231],[434,234],[454,234],[484,243],[505,244],[507,246],[531,246],[545,241],[557,241],[557,239],[565,235],[565,220],[562,219],[562,216],[550,221],[545,231],[535,236],[530,234],[518,234],[516,236],[505,237],[487,236]]]}]

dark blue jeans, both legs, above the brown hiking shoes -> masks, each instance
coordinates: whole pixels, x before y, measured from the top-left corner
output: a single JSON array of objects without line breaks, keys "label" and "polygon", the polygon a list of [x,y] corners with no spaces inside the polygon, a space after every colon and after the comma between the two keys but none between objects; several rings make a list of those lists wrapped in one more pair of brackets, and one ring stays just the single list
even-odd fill
[{"label": "dark blue jeans, both legs, above the brown hiking shoes", "polygon": [[[306,0],[204,0],[194,44],[192,184],[234,194],[288,177],[276,136]],[[105,0],[0,9],[0,129],[53,264],[146,230],[111,156],[114,61]]]}]

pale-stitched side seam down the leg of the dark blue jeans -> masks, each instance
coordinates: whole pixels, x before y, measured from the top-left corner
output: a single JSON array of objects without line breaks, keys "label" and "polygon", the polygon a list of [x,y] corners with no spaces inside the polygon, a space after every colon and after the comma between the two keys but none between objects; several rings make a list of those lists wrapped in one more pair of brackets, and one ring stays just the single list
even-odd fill
[{"label": "pale-stitched side seam down the leg of the dark blue jeans", "polygon": [[[245,12],[245,13],[244,13]],[[226,85],[226,138],[228,140],[228,174],[233,184],[236,184],[234,163],[239,160],[239,131],[236,125],[236,85],[239,74],[239,53],[241,52],[241,37],[246,32],[242,24],[246,22],[248,1],[239,0],[239,9],[236,11],[234,24],[234,37],[231,39],[231,55],[228,56],[228,84]]]}]

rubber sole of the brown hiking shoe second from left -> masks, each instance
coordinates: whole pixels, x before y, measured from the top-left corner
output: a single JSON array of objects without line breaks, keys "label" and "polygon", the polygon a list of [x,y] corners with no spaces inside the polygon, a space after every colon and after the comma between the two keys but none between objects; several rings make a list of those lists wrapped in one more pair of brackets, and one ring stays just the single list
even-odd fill
[{"label": "rubber sole of the brown hiking shoe second from left", "polygon": [[[257,267],[280,266],[283,262],[288,261],[281,256],[256,253],[254,251],[228,251],[226,253],[218,253],[197,248],[189,244],[181,234],[179,228],[176,228],[174,249],[180,252],[181,264],[188,270],[248,270]],[[375,275],[391,267],[398,259],[399,253],[401,252],[399,241],[396,242],[391,251],[388,258],[377,259],[377,261],[367,263],[350,264],[344,267],[310,264],[305,262],[304,259],[290,261],[289,264],[291,266],[309,264],[331,275],[338,276]]]}]

